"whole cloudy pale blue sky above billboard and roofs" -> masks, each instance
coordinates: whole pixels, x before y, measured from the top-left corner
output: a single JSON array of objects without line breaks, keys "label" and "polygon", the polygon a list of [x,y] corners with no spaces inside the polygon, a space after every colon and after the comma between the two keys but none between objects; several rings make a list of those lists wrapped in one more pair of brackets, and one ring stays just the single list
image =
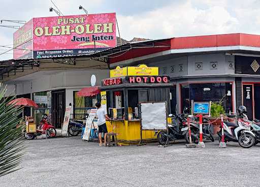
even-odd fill
[{"label": "whole cloudy pale blue sky above billboard and roofs", "polygon": [[[158,39],[226,33],[260,34],[260,1],[240,0],[54,0],[64,15],[116,12],[121,37]],[[49,0],[1,0],[0,19],[56,16]],[[2,23],[10,25],[10,23]],[[13,25],[13,24],[11,24]],[[15,29],[0,27],[0,45],[12,47]],[[0,60],[13,57],[0,47]]]}]

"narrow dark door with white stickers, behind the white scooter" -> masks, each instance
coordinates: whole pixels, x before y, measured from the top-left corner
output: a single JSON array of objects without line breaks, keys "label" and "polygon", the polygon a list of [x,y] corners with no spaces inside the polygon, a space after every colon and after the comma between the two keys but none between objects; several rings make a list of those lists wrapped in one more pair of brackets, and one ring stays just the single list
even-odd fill
[{"label": "narrow dark door with white stickers, behind the white scooter", "polygon": [[253,84],[243,84],[243,105],[247,109],[248,119],[253,119]]}]

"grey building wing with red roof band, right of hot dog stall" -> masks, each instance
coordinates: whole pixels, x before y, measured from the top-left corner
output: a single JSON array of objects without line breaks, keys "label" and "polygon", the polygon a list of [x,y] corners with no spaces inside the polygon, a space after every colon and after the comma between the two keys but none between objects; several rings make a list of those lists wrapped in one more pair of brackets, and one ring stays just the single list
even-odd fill
[{"label": "grey building wing with red roof band, right of hot dog stall", "polygon": [[[159,67],[169,76],[171,112],[191,101],[222,99],[226,113],[245,105],[249,118],[260,118],[260,36],[227,34],[128,43],[108,49],[108,64]],[[109,58],[113,57],[113,58]]]}]

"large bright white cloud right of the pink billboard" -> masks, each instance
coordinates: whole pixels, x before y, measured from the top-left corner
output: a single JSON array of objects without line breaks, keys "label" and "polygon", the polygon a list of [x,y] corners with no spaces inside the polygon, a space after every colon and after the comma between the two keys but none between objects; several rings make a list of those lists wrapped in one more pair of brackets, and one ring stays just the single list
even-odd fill
[{"label": "large bright white cloud right of the pink billboard", "polygon": [[200,9],[190,1],[140,15],[118,15],[118,22],[122,38],[128,40],[231,33],[239,25],[237,18],[224,7],[214,5]]}]

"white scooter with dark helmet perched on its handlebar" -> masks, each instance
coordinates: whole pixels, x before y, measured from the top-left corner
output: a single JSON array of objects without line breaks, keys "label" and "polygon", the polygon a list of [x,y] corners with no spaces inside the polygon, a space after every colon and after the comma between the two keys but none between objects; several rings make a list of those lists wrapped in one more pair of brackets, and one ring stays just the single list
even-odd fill
[{"label": "white scooter with dark helmet perched on its handlebar", "polygon": [[[247,113],[245,106],[240,106],[238,108],[239,115]],[[247,119],[239,118],[237,123],[224,121],[224,141],[238,142],[243,148],[250,148],[255,143],[255,135],[251,132],[251,122]],[[221,141],[222,127],[220,126],[220,131],[217,132],[219,136],[219,142]]]}]

